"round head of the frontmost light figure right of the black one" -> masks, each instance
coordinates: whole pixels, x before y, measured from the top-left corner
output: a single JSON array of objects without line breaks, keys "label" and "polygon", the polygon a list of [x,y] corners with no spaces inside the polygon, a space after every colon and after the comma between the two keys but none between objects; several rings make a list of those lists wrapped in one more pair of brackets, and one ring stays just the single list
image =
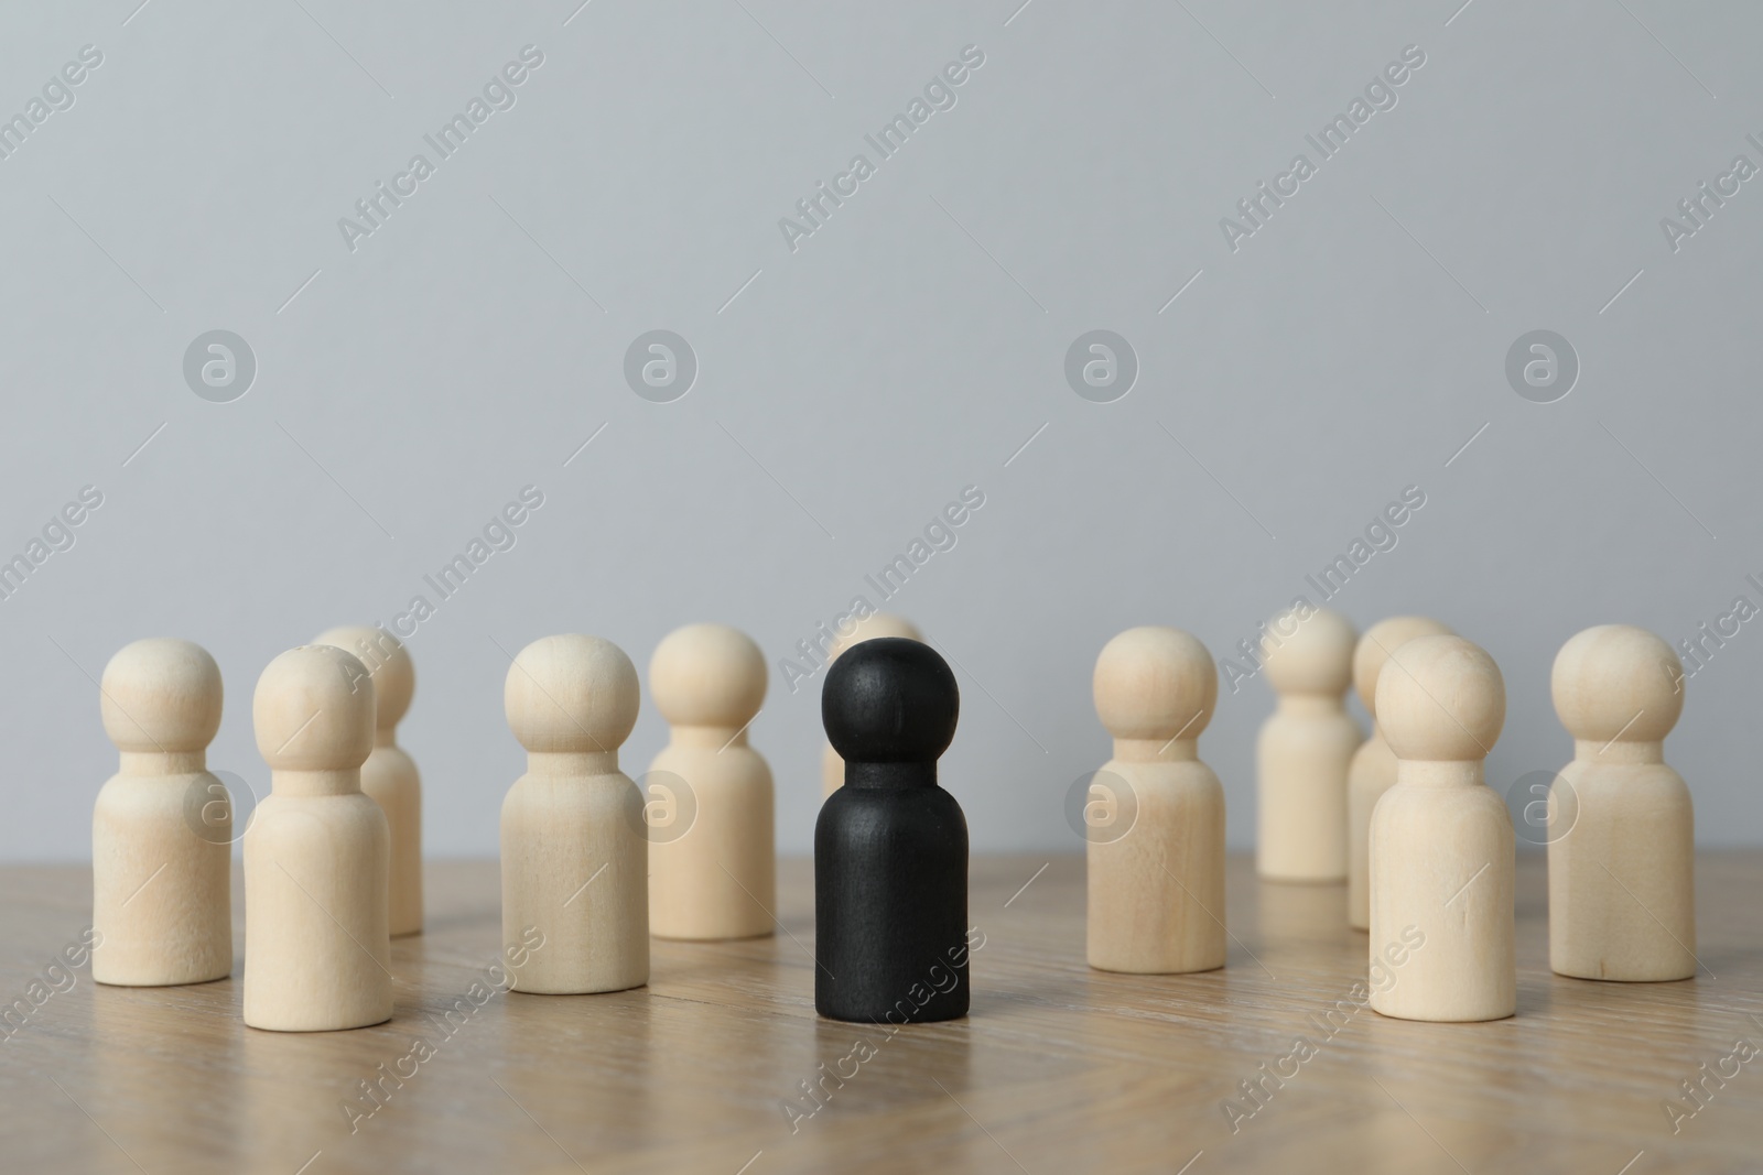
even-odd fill
[{"label": "round head of the frontmost light figure right of the black one", "polygon": [[1417,636],[1377,676],[1373,713],[1398,759],[1484,759],[1506,726],[1506,678],[1462,636]]}]

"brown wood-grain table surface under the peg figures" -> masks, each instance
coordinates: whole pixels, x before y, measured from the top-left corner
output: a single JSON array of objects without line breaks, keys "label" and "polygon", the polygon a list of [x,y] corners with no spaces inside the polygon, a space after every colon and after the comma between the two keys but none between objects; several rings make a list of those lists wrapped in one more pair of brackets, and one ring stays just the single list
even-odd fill
[{"label": "brown wood-grain table surface under the peg figures", "polygon": [[[1084,965],[1081,856],[977,858],[973,1015],[889,1038],[815,1016],[807,861],[783,861],[783,934],[656,942],[647,988],[481,1008],[497,867],[441,861],[428,932],[391,948],[397,1016],[277,1034],[240,1020],[238,962],[197,987],[69,987],[46,969],[88,925],[90,870],[11,867],[0,999],[30,1015],[0,1043],[0,1170],[1759,1171],[1763,853],[1703,853],[1696,881],[1696,979],[1564,979],[1521,856],[1518,1016],[1428,1025],[1354,1009],[1366,937],[1340,886],[1264,884],[1234,856],[1229,965],[1114,976]],[[425,1018],[460,997],[451,1036]],[[822,1064],[852,1076],[807,1115]],[[386,1071],[409,1076],[351,1133],[342,1106]],[[1239,1083],[1264,1071],[1285,1076],[1257,1108]]]}]

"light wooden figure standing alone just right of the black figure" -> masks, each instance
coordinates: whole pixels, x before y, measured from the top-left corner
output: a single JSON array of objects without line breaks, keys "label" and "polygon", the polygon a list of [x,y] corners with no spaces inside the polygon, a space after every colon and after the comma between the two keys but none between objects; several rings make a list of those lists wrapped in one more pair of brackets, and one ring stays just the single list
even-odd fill
[{"label": "light wooden figure standing alone just right of the black figure", "polygon": [[[1224,787],[1199,759],[1218,668],[1188,632],[1127,629],[1097,657],[1114,757],[1091,779],[1088,955],[1100,971],[1224,967]],[[1130,819],[1125,828],[1114,821]]]}]

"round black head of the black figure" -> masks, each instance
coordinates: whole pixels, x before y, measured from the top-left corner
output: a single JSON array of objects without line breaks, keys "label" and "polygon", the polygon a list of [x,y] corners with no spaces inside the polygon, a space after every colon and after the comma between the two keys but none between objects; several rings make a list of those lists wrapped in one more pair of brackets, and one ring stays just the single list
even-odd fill
[{"label": "round black head of the black figure", "polygon": [[820,721],[848,763],[934,763],[956,738],[961,691],[929,645],[878,636],[827,669]]}]

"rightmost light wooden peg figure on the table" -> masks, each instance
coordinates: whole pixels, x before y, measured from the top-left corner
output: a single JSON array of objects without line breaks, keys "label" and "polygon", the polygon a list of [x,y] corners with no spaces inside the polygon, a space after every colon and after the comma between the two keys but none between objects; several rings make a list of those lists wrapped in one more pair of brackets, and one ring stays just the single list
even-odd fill
[{"label": "rightmost light wooden peg figure on the table", "polygon": [[1574,754],[1550,796],[1550,967],[1580,979],[1687,979],[1696,814],[1664,763],[1684,666],[1647,629],[1603,624],[1562,645],[1551,687]]}]

